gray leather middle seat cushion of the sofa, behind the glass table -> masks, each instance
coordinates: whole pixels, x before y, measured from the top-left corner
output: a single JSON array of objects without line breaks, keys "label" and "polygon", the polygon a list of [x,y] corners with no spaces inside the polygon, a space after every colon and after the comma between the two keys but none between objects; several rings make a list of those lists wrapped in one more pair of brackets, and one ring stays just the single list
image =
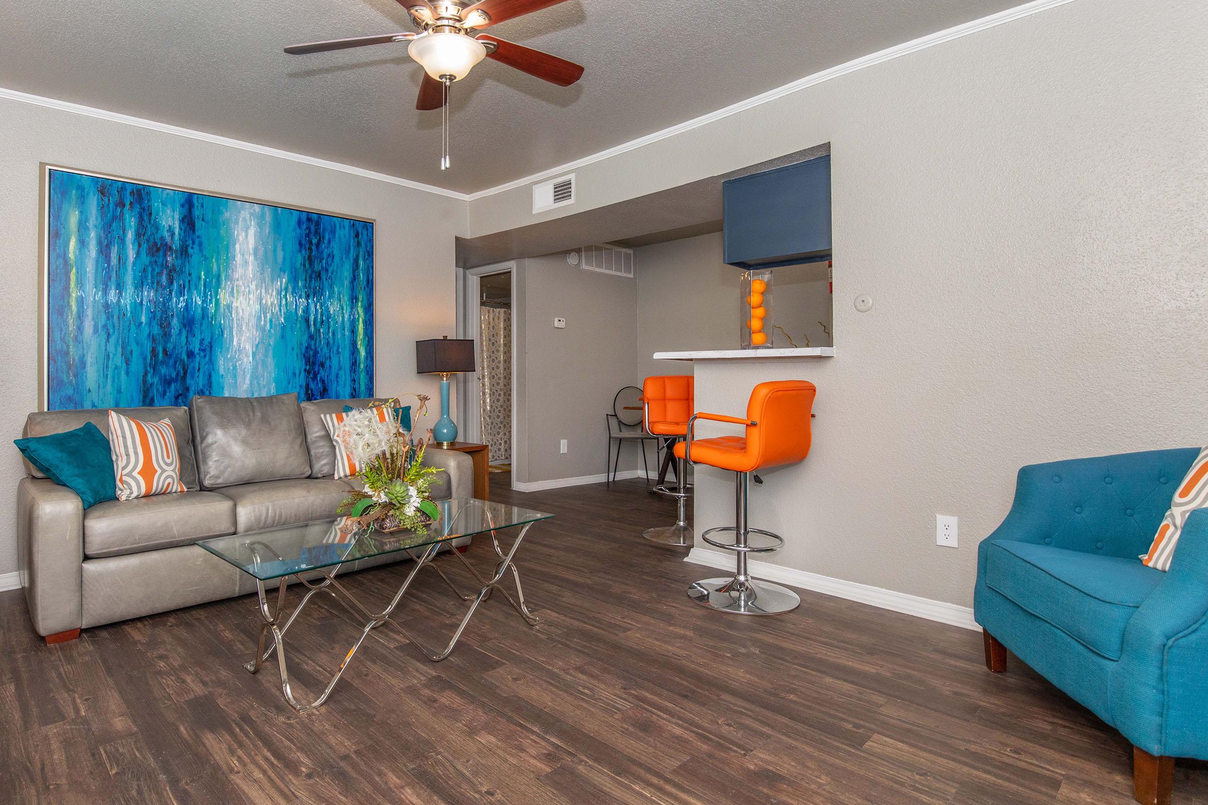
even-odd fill
[{"label": "gray leather middle seat cushion of the sofa, behind the glass table", "polygon": [[221,494],[234,501],[236,533],[246,533],[333,518],[352,489],[342,480],[297,478],[226,486]]}]

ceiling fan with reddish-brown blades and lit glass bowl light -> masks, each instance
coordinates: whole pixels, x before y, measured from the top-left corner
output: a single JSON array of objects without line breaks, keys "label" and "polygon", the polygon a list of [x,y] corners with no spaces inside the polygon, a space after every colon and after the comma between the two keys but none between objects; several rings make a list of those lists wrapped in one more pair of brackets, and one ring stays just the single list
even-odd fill
[{"label": "ceiling fan with reddish-brown blades and lit glass bowl light", "polygon": [[424,68],[424,78],[419,84],[416,109],[422,111],[443,110],[441,170],[449,168],[449,86],[469,75],[478,62],[490,58],[559,87],[569,87],[583,75],[583,68],[574,62],[516,45],[490,34],[477,33],[495,23],[540,11],[564,2],[564,0],[481,0],[480,2],[397,0],[397,2],[411,13],[411,19],[418,31],[291,45],[285,48],[285,52],[292,56],[304,56],[349,47],[365,47],[366,45],[407,42],[408,56]]}]

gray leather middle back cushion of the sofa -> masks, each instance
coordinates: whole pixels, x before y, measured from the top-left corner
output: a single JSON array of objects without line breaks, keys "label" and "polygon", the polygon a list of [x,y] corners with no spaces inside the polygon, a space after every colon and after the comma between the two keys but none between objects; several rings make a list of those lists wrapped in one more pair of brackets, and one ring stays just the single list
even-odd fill
[{"label": "gray leather middle back cushion of the sofa", "polygon": [[188,410],[203,489],[310,474],[297,395],[198,395],[188,403]]}]

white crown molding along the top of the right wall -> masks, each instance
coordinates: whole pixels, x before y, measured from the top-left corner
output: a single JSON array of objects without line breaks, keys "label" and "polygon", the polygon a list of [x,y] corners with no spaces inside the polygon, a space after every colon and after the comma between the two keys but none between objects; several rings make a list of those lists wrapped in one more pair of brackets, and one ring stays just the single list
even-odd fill
[{"label": "white crown molding along the top of the right wall", "polygon": [[600,151],[593,153],[590,157],[583,157],[581,159],[575,159],[574,162],[568,162],[564,165],[558,165],[557,168],[550,168],[548,170],[542,170],[541,173],[533,174],[532,176],[524,176],[523,179],[517,179],[498,187],[490,187],[488,189],[477,191],[467,196],[469,200],[476,202],[480,198],[486,198],[488,196],[494,196],[495,193],[504,193],[510,189],[516,189],[517,187],[523,187],[533,182],[539,182],[558,174],[569,173],[590,165],[593,162],[600,162],[602,159],[608,159],[609,157],[615,157],[627,151],[633,151],[640,148],[651,142],[658,142],[660,140],[666,140],[669,136],[675,136],[676,134],[683,134],[684,132],[690,132],[692,129],[699,128],[702,126],[708,126],[714,121],[720,121],[731,115],[737,115],[738,112],[760,106],[762,104],[771,103],[785,95],[790,95],[795,92],[800,92],[807,87],[813,87],[824,81],[830,81],[831,78],[838,78],[840,76],[846,76],[849,72],[855,72],[856,70],[863,70],[865,68],[871,68],[873,65],[888,62],[890,59],[896,59],[901,56],[908,56],[918,51],[934,47],[936,45],[942,45],[945,42],[951,42],[954,39],[960,39],[962,36],[969,36],[970,34],[976,34],[983,31],[988,28],[994,28],[995,25],[1001,25],[1004,23],[1014,22],[1023,17],[1029,17],[1041,11],[1047,11],[1049,8],[1056,8],[1057,6],[1063,6],[1067,2],[1073,2],[1074,0],[1033,0],[1033,2],[1024,4],[1022,6],[1016,6],[1015,8],[1007,8],[1006,11],[1000,11],[995,14],[988,17],[982,17],[981,19],[974,19],[972,22],[963,23],[960,25],[954,25],[935,34],[928,34],[927,36],[919,36],[918,39],[911,40],[908,42],[902,42],[901,45],[894,45],[893,47],[887,47],[883,51],[877,51],[876,53],[870,53],[869,56],[861,56],[858,59],[847,62],[846,64],[840,64],[838,66],[829,68],[821,72],[815,72],[813,75],[806,76],[805,78],[798,78],[776,89],[769,89],[762,95],[755,95],[754,98],[748,98],[747,100],[741,100],[737,104],[726,106],[725,109],[719,109],[715,112],[709,112],[708,115],[702,115],[701,117],[685,121],[684,123],[678,123],[670,128],[662,129],[661,132],[655,132],[654,134],[647,134],[640,136],[637,140],[629,140],[628,142],[622,142],[618,146],[608,148],[606,151]]}]

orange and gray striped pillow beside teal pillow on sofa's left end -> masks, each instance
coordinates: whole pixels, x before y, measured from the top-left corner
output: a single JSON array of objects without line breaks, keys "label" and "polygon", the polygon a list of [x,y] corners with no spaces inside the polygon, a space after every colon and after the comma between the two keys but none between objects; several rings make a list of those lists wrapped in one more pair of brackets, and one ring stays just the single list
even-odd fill
[{"label": "orange and gray striped pillow beside teal pillow on sofa's left end", "polygon": [[180,483],[176,431],[168,420],[140,422],[109,412],[109,449],[117,477],[117,500],[185,491]]}]

